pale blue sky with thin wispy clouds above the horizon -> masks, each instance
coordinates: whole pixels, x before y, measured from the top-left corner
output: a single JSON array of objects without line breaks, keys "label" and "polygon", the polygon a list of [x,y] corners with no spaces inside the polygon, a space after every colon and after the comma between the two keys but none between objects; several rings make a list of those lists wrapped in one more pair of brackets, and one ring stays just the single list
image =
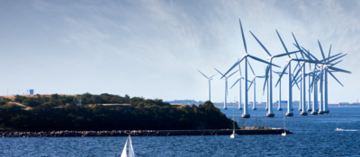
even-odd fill
[{"label": "pale blue sky with thin wispy clouds above the horizon", "polygon": [[[208,76],[216,74],[214,68],[224,73],[242,57],[241,19],[252,56],[266,59],[267,54],[249,31],[272,55],[285,52],[275,30],[289,51],[296,50],[293,32],[315,57],[322,58],[318,39],[325,54],[330,45],[332,55],[347,54],[336,67],[352,74],[335,74],[344,87],[329,76],[329,102],[356,102],[359,14],[356,0],[0,0],[0,95],[34,89],[39,94],[207,100],[207,79],[196,69]],[[275,58],[281,68],[273,70],[282,71],[286,58]],[[265,74],[265,64],[249,62],[255,74]],[[229,87],[238,75],[229,78]],[[277,80],[274,74],[273,83]],[[287,100],[287,79],[282,83],[282,100]],[[266,101],[263,85],[258,79],[257,101]],[[224,81],[217,74],[211,81],[211,101],[224,97]],[[228,101],[236,99],[238,85],[229,89]],[[293,100],[299,99],[299,90],[293,88]]]}]

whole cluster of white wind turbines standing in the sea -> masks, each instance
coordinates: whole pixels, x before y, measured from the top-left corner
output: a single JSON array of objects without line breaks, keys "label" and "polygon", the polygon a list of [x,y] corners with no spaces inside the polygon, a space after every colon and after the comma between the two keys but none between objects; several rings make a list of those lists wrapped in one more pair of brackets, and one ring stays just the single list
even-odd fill
[{"label": "whole cluster of white wind turbines standing in the sea", "polygon": [[[279,37],[285,53],[283,54],[279,54],[279,55],[272,55],[267,49],[266,47],[260,42],[259,39],[257,39],[257,37],[250,31],[251,35],[257,40],[257,43],[266,51],[268,57],[266,57],[267,60],[263,60],[260,59],[258,57],[254,57],[252,55],[249,55],[247,53],[247,43],[244,37],[244,32],[242,29],[242,24],[240,19],[238,20],[239,24],[240,24],[240,29],[241,29],[241,36],[242,36],[242,40],[243,40],[243,44],[244,44],[244,48],[245,48],[245,54],[238,59],[238,61],[232,65],[229,70],[222,74],[220,73],[220,71],[218,69],[215,68],[215,70],[221,74],[220,79],[223,79],[225,81],[225,100],[224,100],[224,108],[223,109],[227,109],[227,97],[228,97],[228,79],[230,76],[232,76],[233,74],[236,74],[237,72],[239,72],[239,76],[237,81],[230,87],[234,87],[237,83],[239,84],[239,97],[238,97],[238,109],[242,109],[241,108],[241,98],[242,98],[242,93],[241,91],[244,91],[244,113],[241,115],[242,118],[250,118],[250,114],[248,113],[248,90],[250,89],[251,85],[254,84],[254,101],[253,101],[253,110],[256,110],[256,80],[257,78],[264,78],[265,82],[264,82],[264,87],[263,87],[263,92],[265,92],[265,89],[267,89],[267,102],[266,102],[266,110],[268,110],[268,112],[266,113],[266,117],[268,118],[274,118],[275,114],[273,111],[273,73],[278,74],[279,75],[279,79],[277,80],[275,87],[277,85],[279,85],[279,100],[278,100],[278,108],[277,110],[282,110],[281,107],[281,79],[283,78],[284,74],[287,74],[288,76],[288,100],[287,100],[287,112],[286,112],[286,116],[287,117],[293,117],[293,86],[296,85],[298,87],[298,89],[301,91],[300,92],[300,104],[299,104],[299,110],[301,111],[301,116],[307,116],[308,112],[307,111],[311,111],[311,115],[317,115],[319,114],[325,114],[325,113],[329,113],[329,109],[328,109],[328,74],[330,74],[338,83],[340,83],[338,81],[338,79],[335,77],[335,75],[333,73],[335,72],[341,72],[341,73],[347,73],[347,74],[351,74],[351,72],[347,71],[347,70],[343,70],[340,69],[338,67],[335,67],[335,65],[337,65],[339,62],[341,62],[342,60],[336,62],[338,59],[340,59],[341,57],[345,57],[347,54],[336,54],[334,56],[330,56],[331,53],[331,46],[329,48],[329,55],[328,57],[325,56],[323,49],[321,47],[320,41],[318,40],[319,43],[319,47],[320,47],[320,53],[322,56],[322,59],[319,59],[317,57],[314,57],[309,49],[303,48],[302,46],[299,45],[298,41],[296,40],[295,36],[293,35],[293,39],[294,39],[294,43],[293,46],[296,50],[289,52],[288,49],[286,48],[283,39],[281,38],[280,34],[278,31],[276,31],[277,36]],[[293,34],[293,33],[292,33]],[[297,54],[300,54],[300,56],[298,57]],[[295,58],[291,57],[291,55],[295,55]],[[275,65],[273,64],[273,59],[275,58],[279,58],[279,57],[286,57],[288,56],[289,58],[286,59],[287,64],[284,66],[284,70],[282,72],[275,72],[273,71],[273,66],[276,67],[280,67],[279,65]],[[266,64],[266,70],[265,70],[265,74],[264,75],[256,75],[254,73],[253,68],[251,67],[250,63],[248,62],[248,59],[254,59],[258,62],[264,63]],[[292,72],[292,62],[295,63],[295,68],[293,69]],[[245,70],[245,74],[242,75],[241,74],[241,67],[240,64],[243,63],[243,67]],[[252,81],[248,80],[248,76],[247,76],[247,65],[250,67],[251,72],[254,74]],[[309,71],[306,71],[306,65],[309,65]],[[238,67],[238,70],[236,70],[235,72],[231,73],[231,71]],[[198,70],[199,71],[199,70]],[[202,72],[199,71],[201,74]],[[229,74],[229,75],[228,75]],[[206,77],[208,79],[208,89],[209,89],[209,100],[211,100],[211,80],[212,77],[215,75],[213,74],[211,77],[207,77],[205,74],[202,74],[204,77]],[[306,77],[308,77],[308,84],[306,84]],[[241,84],[242,82],[244,83],[244,88],[242,88]],[[250,83],[250,85],[248,85],[248,83]],[[299,83],[300,83],[300,87],[299,87]],[[344,86],[342,83],[340,83],[342,86]],[[266,88],[267,87],[267,88]],[[318,104],[318,88],[320,90],[320,104]],[[308,100],[309,103],[307,104],[307,109],[305,109],[306,106],[306,92],[308,92]],[[313,103],[311,106],[311,93],[313,95]],[[319,109],[318,109],[319,106]]]}]

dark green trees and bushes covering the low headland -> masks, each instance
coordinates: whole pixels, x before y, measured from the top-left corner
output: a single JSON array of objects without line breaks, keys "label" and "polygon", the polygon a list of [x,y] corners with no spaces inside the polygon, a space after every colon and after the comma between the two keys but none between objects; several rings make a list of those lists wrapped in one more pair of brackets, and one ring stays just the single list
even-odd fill
[{"label": "dark green trees and bushes covering the low headland", "polygon": [[[19,106],[0,108],[0,127],[29,131],[52,130],[181,130],[181,129],[226,129],[232,128],[227,118],[211,101],[199,106],[183,108],[171,106],[163,100],[146,100],[126,95],[82,94],[84,106],[76,105],[77,96],[35,97],[18,96],[32,109]],[[129,103],[130,109],[108,109],[101,103]],[[89,106],[87,104],[94,104]],[[64,105],[64,108],[53,107]],[[237,125],[236,125],[237,126]]]}]

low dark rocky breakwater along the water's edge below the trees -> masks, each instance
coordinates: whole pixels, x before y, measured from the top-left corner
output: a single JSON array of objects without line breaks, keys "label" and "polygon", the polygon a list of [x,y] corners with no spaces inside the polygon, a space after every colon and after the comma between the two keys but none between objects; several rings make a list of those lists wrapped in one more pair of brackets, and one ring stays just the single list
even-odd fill
[{"label": "low dark rocky breakwater along the water's edge below the trees", "polygon": [[[281,128],[236,130],[238,135],[280,135]],[[287,134],[293,134],[286,130]],[[0,137],[86,137],[86,136],[166,136],[166,135],[231,135],[232,130],[112,130],[112,131],[51,131],[0,132]]]}]

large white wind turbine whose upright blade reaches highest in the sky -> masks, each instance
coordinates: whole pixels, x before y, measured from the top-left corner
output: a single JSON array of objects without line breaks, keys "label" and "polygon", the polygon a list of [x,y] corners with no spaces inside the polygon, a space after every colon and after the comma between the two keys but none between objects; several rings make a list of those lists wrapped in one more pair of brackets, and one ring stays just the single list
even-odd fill
[{"label": "large white wind turbine whose upright blade reaches highest in the sky", "polygon": [[[245,93],[245,99],[244,99],[244,113],[241,115],[241,117],[242,117],[242,118],[250,118],[250,115],[249,115],[248,112],[247,112],[247,102],[248,102],[248,100],[247,100],[247,57],[250,57],[250,58],[252,58],[252,59],[255,59],[255,60],[259,61],[259,62],[266,63],[266,64],[268,64],[268,65],[273,65],[273,64],[268,63],[268,62],[266,62],[265,60],[260,59],[260,58],[258,58],[258,57],[251,56],[251,55],[249,55],[249,54],[247,53],[247,43],[246,43],[246,40],[245,40],[245,37],[244,37],[244,31],[242,30],[242,25],[241,25],[240,19],[238,19],[238,22],[240,23],[241,36],[242,36],[242,40],[243,40],[243,43],[244,43],[244,48],[245,48],[245,53],[246,53],[246,54],[244,54],[243,57],[242,57],[240,60],[238,60],[238,62],[236,62],[234,65],[232,65],[232,66],[229,68],[228,72],[226,72],[225,74],[229,74],[229,72],[230,72],[236,65],[240,64],[243,60],[245,61],[245,63],[244,63],[244,65],[245,65],[245,78],[244,78],[244,79],[245,79],[245,80],[244,80],[244,82],[245,82],[245,88],[244,88],[244,91],[245,91],[245,92],[244,92],[244,93]],[[275,66],[280,67],[280,66],[278,66],[278,65],[275,65]],[[224,77],[224,76],[222,76],[222,77]]]}]

